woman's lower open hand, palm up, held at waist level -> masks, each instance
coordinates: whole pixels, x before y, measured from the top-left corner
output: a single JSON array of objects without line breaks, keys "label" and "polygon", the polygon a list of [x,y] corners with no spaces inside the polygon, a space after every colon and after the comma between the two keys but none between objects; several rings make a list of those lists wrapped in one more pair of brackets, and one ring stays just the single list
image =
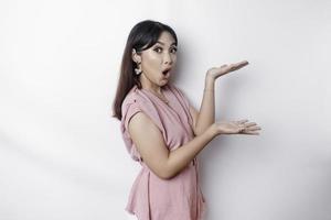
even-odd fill
[{"label": "woman's lower open hand, palm up, held at waist level", "polygon": [[260,127],[257,127],[255,122],[247,123],[248,120],[239,121],[223,121],[215,122],[213,124],[216,130],[216,134],[259,134],[257,131],[261,130]]}]

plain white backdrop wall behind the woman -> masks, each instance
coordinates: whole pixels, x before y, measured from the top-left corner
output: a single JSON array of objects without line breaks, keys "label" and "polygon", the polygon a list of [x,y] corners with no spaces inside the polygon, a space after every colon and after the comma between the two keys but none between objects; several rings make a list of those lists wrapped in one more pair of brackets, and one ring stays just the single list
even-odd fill
[{"label": "plain white backdrop wall behind the woman", "polygon": [[289,1],[1,1],[0,219],[134,219],[140,167],[111,118],[129,31],[172,26],[172,80],[199,109],[209,68],[223,135],[199,155],[209,220],[331,219],[331,4]]}]

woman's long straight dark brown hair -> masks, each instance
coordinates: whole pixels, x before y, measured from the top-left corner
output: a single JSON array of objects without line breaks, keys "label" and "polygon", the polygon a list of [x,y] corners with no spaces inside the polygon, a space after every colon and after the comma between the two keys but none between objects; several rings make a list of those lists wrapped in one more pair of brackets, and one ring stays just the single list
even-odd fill
[{"label": "woman's long straight dark brown hair", "polygon": [[121,120],[121,103],[130,89],[137,85],[141,89],[139,76],[136,75],[135,68],[137,64],[132,61],[132,50],[138,54],[154,45],[163,31],[169,32],[178,44],[174,31],[167,24],[158,21],[145,20],[137,23],[128,36],[126,47],[122,54],[119,80],[117,85],[116,96],[113,103],[113,117]]}]

